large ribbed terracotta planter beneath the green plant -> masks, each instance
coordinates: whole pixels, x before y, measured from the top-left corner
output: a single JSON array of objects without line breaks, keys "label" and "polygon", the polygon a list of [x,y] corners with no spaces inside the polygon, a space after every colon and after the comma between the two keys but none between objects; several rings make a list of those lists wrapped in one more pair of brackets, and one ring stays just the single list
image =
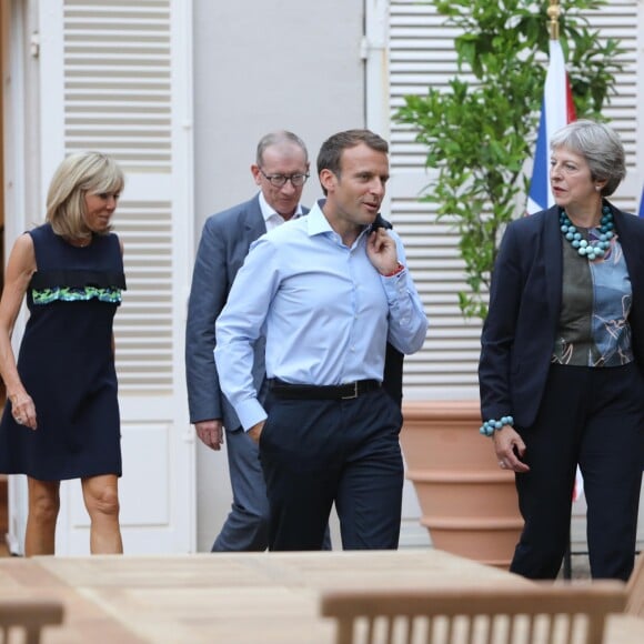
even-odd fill
[{"label": "large ribbed terracotta planter beneath the green plant", "polygon": [[514,474],[479,434],[476,401],[405,402],[401,444],[435,547],[507,566],[523,527]]}]

